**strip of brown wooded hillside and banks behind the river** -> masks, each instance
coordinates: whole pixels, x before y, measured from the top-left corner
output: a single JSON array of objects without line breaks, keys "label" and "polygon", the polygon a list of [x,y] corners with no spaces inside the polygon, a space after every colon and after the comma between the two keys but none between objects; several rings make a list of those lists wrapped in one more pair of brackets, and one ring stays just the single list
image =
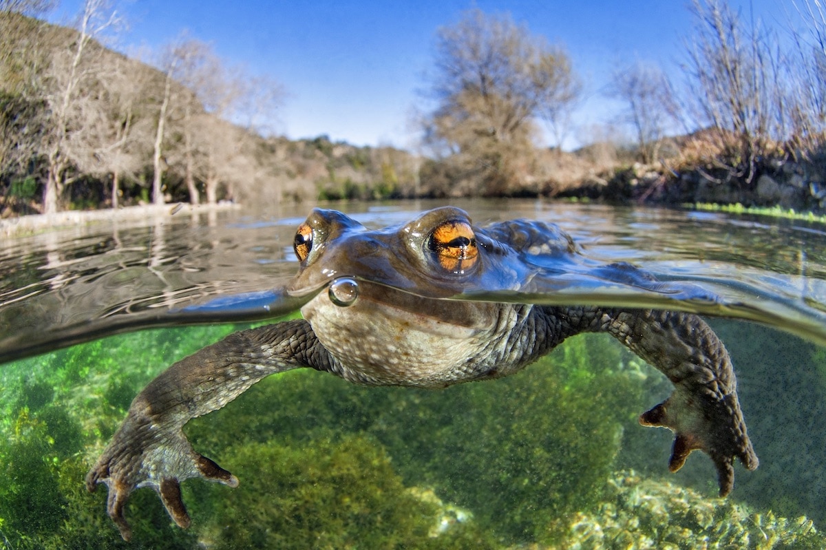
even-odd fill
[{"label": "strip of brown wooded hillside and banks behind the river", "polygon": [[[482,125],[464,149],[445,138],[425,157],[230,122],[262,97],[277,109],[266,86],[278,83],[232,80],[195,40],[154,58],[158,67],[82,31],[0,12],[0,217],[150,202],[470,196],[826,208],[818,127],[782,140],[709,128],[654,147],[603,141],[569,153],[525,136],[508,145]],[[638,163],[653,158],[645,149],[656,160]]]}]

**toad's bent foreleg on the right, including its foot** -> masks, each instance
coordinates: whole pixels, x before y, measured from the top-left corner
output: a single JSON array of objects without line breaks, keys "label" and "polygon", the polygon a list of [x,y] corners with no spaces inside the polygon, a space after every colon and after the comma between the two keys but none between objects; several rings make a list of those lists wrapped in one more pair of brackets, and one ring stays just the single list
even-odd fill
[{"label": "toad's bent foreleg on the right, including its foot", "polygon": [[666,401],[639,417],[640,424],[674,432],[669,470],[679,470],[699,449],[714,461],[720,496],[728,495],[734,458],[748,470],[758,461],[740,411],[731,358],[717,334],[697,315],[677,311],[604,310],[594,320],[592,330],[610,333],[674,384]]}]

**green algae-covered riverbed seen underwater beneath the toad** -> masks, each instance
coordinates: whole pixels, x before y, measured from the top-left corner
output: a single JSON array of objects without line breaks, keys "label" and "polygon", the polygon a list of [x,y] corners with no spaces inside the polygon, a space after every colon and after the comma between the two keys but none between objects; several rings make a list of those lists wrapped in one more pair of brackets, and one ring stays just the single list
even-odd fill
[{"label": "green algae-covered riverbed seen underwater beneath the toad", "polygon": [[[602,532],[618,524],[605,514],[611,503],[617,509],[619,467],[654,464],[645,477],[665,475],[670,434],[639,427],[636,416],[662,399],[667,382],[605,335],[571,339],[513,377],[444,391],[364,388],[301,370],[269,377],[188,424],[195,448],[234,472],[240,486],[184,483],[193,518],[187,531],[173,526],[152,491],[135,491],[127,506],[134,542],[126,545],[105,513],[106,491],[90,495],[83,486],[88,467],[151,377],[236,328],[123,334],[6,365],[2,548],[575,548],[584,528],[572,525],[584,525],[584,518]],[[743,356],[742,348],[752,340],[729,333],[742,341],[729,348],[748,393],[754,389],[748,363],[758,359]],[[758,337],[762,345],[769,340]],[[823,363],[815,350],[800,348],[801,361]],[[751,421],[752,410],[746,416]],[[640,448],[650,449],[650,457]],[[662,504],[663,514],[644,520],[629,509],[616,540],[633,535],[670,543],[672,534],[660,533],[668,524],[691,532],[686,541],[710,541],[708,548],[734,540],[719,531],[733,513],[714,512],[720,515],[710,525],[689,521],[709,502],[729,503],[708,498],[714,472],[707,462],[692,457],[688,475],[677,477],[691,483],[696,465],[706,496],[668,489],[689,504]],[[794,500],[783,485],[770,491],[773,500],[759,500],[760,485],[752,490],[742,483],[750,475],[738,473],[735,491],[765,511],[738,513],[746,514],[743,521],[760,519],[766,540],[775,542],[745,548],[783,548],[776,541],[794,533],[804,533],[807,544],[826,542],[809,519],[774,515],[810,514],[817,502]],[[645,502],[661,496],[653,488],[634,491]],[[757,532],[750,530],[749,540],[757,541]],[[596,548],[583,544],[578,548]]]}]

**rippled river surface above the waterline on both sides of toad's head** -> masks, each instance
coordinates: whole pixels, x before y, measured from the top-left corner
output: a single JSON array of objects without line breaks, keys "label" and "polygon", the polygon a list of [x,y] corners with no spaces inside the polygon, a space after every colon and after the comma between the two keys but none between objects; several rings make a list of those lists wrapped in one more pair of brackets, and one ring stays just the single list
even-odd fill
[{"label": "rippled river surface above the waterline on both sides of toad's head", "polygon": [[[468,210],[477,225],[517,217],[556,223],[582,245],[587,258],[628,261],[672,282],[698,283],[729,304],[757,306],[752,318],[765,317],[809,338],[826,338],[826,232],[818,225],[535,201],[451,203]],[[435,206],[441,203],[332,207],[379,228],[401,224]],[[139,325],[237,319],[244,317],[244,307],[249,319],[292,310],[299,303],[281,303],[278,293],[263,307],[260,293],[282,287],[296,272],[292,239],[310,209],[182,212],[7,238],[0,248],[0,359]],[[558,286],[559,280],[544,282],[551,288],[553,283]],[[583,285],[577,277],[569,277],[565,285],[562,290],[570,296],[559,288],[549,296],[547,287],[540,286],[529,289],[527,298],[555,303],[600,298],[595,295],[599,288]],[[250,293],[249,304],[236,300],[231,311],[215,307],[226,302],[213,302],[198,315],[173,318],[168,313],[219,296],[243,298],[245,293]],[[728,313],[749,317],[746,310]]]}]

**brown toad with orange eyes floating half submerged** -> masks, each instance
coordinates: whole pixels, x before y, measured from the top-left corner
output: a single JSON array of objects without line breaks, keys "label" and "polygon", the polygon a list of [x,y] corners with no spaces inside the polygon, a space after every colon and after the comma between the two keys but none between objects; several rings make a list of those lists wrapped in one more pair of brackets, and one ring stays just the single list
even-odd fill
[{"label": "brown toad with orange eyes floating half submerged", "polygon": [[[182,429],[263,377],[311,367],[358,384],[444,387],[508,376],[582,332],[611,334],[674,384],[666,401],[639,417],[674,432],[672,472],[700,449],[717,468],[719,494],[727,495],[734,458],[748,470],[757,467],[729,353],[697,315],[441,299],[478,287],[491,273],[514,276],[520,258],[576,255],[555,225],[515,220],[479,228],[464,211],[443,207],[405,225],[367,230],[337,211],[316,209],[298,228],[294,249],[300,268],[287,290],[329,289],[301,309],[304,320],[230,334],[174,363],[135,397],[88,473],[89,491],[107,485],[107,511],[123,538],[131,536],[124,506],[136,488],[157,491],[185,528],[182,481],[238,485],[193,450]],[[606,269],[654,282],[628,264]]]}]

